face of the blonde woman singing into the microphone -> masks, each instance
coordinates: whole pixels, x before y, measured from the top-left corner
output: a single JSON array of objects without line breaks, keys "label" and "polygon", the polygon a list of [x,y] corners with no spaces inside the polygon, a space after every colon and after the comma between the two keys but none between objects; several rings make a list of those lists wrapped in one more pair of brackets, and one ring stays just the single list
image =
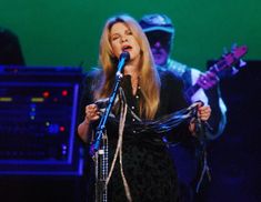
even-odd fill
[{"label": "face of the blonde woman singing into the microphone", "polygon": [[140,46],[126,23],[117,22],[111,27],[110,43],[112,52],[117,58],[123,51],[128,51],[130,53],[130,60],[140,59]]}]

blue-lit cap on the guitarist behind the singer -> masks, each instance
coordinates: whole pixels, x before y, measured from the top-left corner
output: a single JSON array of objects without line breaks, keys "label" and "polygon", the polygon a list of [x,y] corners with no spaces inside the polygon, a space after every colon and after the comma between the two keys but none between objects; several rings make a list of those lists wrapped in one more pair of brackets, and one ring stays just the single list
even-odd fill
[{"label": "blue-lit cap on the guitarist behind the singer", "polygon": [[145,14],[141,18],[139,23],[144,32],[160,30],[174,33],[172,22],[165,14]]}]

